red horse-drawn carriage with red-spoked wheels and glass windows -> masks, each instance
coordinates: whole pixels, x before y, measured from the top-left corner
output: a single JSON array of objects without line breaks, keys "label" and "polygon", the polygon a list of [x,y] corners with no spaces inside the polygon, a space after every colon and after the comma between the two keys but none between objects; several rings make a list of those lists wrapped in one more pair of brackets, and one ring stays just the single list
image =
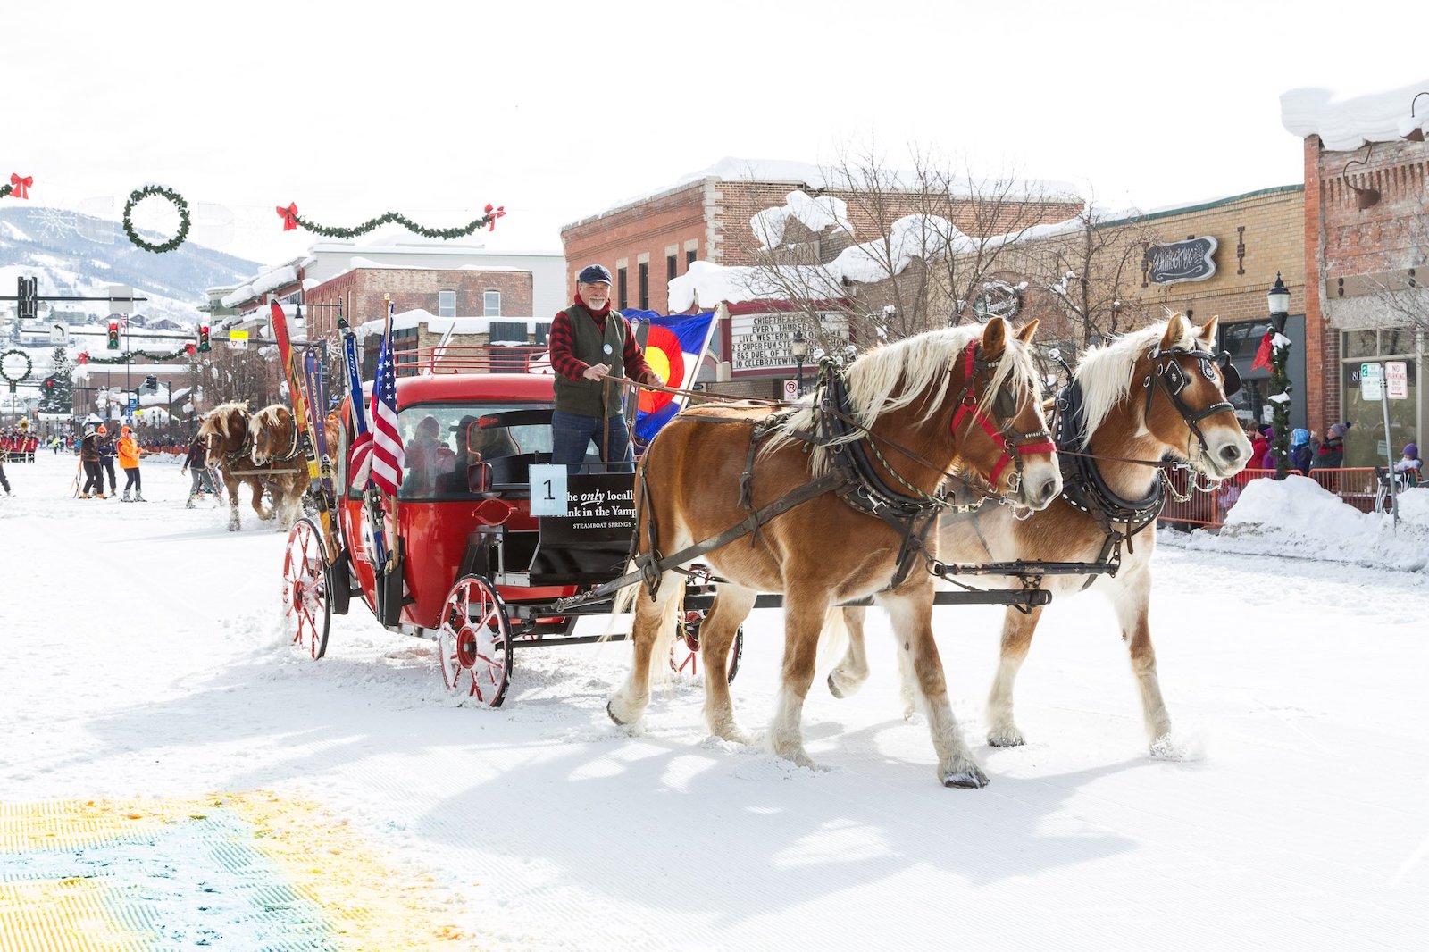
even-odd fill
[{"label": "red horse-drawn carriage with red-spoked wheels and glass windows", "polygon": [[[356,596],[389,630],[437,640],[449,688],[497,706],[514,648],[624,638],[574,633],[579,618],[609,613],[610,598],[553,608],[624,572],[633,516],[592,529],[589,520],[532,515],[532,466],[550,463],[552,377],[436,373],[400,377],[396,386],[406,443],[396,497],[382,507],[349,485],[353,430],[344,405],[340,445],[330,449],[339,492],[330,539],[313,515],[289,533],[283,598],[293,640],[322,658],[332,615],[344,615]],[[604,467],[592,457],[587,469]],[[620,499],[633,485],[633,473],[589,472],[570,476],[567,489],[576,497]],[[390,563],[374,557],[374,506],[390,537]],[[690,576],[690,606],[670,659],[676,670],[694,670],[697,605],[707,606],[709,589],[707,577]],[[736,645],[730,676],[739,652]]]}]

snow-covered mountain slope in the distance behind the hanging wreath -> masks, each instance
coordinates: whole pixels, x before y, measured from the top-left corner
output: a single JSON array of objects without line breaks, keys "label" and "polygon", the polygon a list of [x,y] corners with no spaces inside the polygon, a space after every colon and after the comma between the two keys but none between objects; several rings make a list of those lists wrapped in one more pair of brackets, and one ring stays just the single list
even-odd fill
[{"label": "snow-covered mountain slope in the distance behind the hanging wreath", "polygon": [[[140,234],[156,244],[170,234]],[[19,277],[37,279],[44,296],[106,296],[110,284],[127,284],[136,297],[131,323],[157,326],[170,320],[183,327],[200,323],[197,307],[207,303],[204,290],[237,284],[252,277],[257,264],[242,257],[184,242],[163,254],[146,252],[127,239],[119,222],[77,212],[0,203],[0,294],[14,294]],[[59,319],[83,324],[109,314],[106,302],[56,302]],[[0,302],[0,316],[13,314],[11,302]],[[40,317],[47,312],[41,303]],[[49,322],[46,322],[49,323]]]}]

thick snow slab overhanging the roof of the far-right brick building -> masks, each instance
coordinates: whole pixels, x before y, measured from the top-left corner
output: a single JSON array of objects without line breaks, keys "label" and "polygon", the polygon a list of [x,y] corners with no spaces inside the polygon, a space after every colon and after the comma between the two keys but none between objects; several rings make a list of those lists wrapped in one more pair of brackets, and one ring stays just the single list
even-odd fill
[{"label": "thick snow slab overhanging the roof of the far-right brick building", "polygon": [[1366,142],[1396,142],[1415,129],[1429,129],[1429,97],[1413,109],[1415,96],[1426,89],[1429,80],[1355,97],[1328,89],[1292,89],[1280,94],[1280,124],[1300,139],[1319,136],[1333,152],[1352,152]]}]

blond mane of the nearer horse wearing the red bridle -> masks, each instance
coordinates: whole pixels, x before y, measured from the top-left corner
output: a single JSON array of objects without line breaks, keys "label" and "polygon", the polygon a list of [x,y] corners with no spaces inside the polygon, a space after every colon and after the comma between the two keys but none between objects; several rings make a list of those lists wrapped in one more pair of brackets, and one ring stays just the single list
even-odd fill
[{"label": "blond mane of the nearer horse wearing the red bridle", "polygon": [[[983,330],[983,324],[962,324],[926,330],[873,347],[845,369],[850,416],[860,426],[869,427],[877,417],[916,400],[923,400],[925,410],[917,422],[929,420],[950,396],[947,390],[953,382],[952,370],[956,362],[963,359],[969,343],[982,339]],[[1040,380],[1032,362],[1032,352],[1016,339],[1010,327],[1003,356],[997,360],[992,380],[982,395],[980,406],[983,410],[989,409],[993,397],[1007,382],[1023,385],[1032,393],[1040,393]],[[900,383],[902,389],[897,389]],[[895,393],[895,390],[897,392]],[[796,439],[793,436],[796,432],[813,427],[813,397],[807,397],[807,406],[795,410],[762,452],[767,453],[782,443]],[[819,476],[827,470],[829,446],[852,443],[860,436],[859,432],[853,432],[829,445],[815,446],[809,455],[810,472]]]}]

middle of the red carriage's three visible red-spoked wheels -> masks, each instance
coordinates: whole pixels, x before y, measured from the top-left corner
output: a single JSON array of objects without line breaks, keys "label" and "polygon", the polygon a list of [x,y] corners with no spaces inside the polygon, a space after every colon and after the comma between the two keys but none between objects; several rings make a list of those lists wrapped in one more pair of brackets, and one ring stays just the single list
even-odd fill
[{"label": "middle of the red carriage's three visible red-spoked wheels", "polygon": [[479,575],[457,579],[442,609],[437,662],[447,689],[500,708],[512,678],[512,623],[506,603]]}]

